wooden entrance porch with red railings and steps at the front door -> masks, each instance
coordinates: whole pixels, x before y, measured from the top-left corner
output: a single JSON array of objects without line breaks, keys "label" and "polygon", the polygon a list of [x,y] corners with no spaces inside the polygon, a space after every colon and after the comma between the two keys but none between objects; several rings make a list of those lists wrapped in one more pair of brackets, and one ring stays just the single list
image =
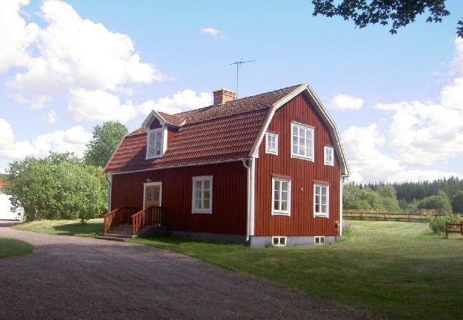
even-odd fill
[{"label": "wooden entrance porch with red railings and steps at the front door", "polygon": [[137,207],[120,207],[104,216],[103,238],[124,240],[132,238],[147,228],[167,229],[167,207],[150,206],[145,209]]}]

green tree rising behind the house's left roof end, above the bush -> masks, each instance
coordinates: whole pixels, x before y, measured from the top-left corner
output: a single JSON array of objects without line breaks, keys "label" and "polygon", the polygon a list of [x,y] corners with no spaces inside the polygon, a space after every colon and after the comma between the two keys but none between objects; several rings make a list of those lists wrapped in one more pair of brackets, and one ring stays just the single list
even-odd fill
[{"label": "green tree rising behind the house's left roof end, above the bush", "polygon": [[97,124],[93,127],[93,139],[85,150],[85,164],[105,166],[125,134],[128,134],[128,129],[120,122],[103,122],[101,126]]}]

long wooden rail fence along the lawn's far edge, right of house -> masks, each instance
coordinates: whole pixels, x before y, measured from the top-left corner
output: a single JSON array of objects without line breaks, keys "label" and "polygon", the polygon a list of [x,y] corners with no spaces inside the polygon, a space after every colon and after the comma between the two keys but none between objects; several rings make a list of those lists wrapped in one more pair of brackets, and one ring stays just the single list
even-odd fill
[{"label": "long wooden rail fence along the lawn's far edge, right of house", "polygon": [[346,220],[373,220],[373,221],[402,221],[402,222],[427,222],[430,216],[443,215],[438,210],[420,210],[417,213],[393,213],[379,210],[343,210],[343,218]]}]

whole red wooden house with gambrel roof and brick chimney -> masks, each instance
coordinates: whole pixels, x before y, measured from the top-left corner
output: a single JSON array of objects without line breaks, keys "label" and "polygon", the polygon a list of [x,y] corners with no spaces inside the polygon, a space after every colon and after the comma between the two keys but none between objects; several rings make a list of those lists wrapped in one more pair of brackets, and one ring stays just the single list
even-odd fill
[{"label": "whole red wooden house with gambrel roof and brick chimney", "polygon": [[172,235],[248,243],[314,244],[342,234],[349,175],[333,119],[308,84],[214,105],[152,111],[108,164],[105,232],[166,225]]}]

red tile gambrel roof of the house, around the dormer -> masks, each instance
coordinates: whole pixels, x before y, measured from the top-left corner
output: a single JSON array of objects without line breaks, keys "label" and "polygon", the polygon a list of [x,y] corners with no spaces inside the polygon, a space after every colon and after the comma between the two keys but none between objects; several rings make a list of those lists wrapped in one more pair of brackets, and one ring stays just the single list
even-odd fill
[{"label": "red tile gambrel roof of the house, around the dormer", "polygon": [[165,154],[160,158],[145,159],[147,129],[139,128],[123,139],[108,161],[105,173],[246,158],[259,139],[270,107],[298,86],[179,114],[157,112],[165,122],[182,125]]}]

